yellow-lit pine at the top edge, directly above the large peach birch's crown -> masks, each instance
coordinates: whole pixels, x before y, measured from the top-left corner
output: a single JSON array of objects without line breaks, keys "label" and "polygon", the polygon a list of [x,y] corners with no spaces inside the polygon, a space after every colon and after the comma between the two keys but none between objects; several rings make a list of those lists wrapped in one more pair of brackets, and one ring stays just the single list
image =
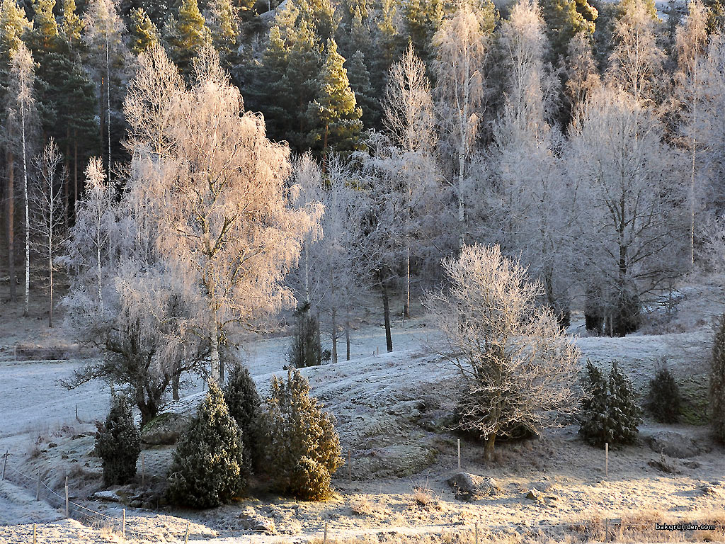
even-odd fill
[{"label": "yellow-lit pine at the top edge, directly above the large peach birch's crown", "polygon": [[191,73],[191,61],[196,51],[210,39],[209,29],[196,0],[182,0],[175,17],[167,20],[164,28],[165,40],[171,59],[181,73]]}]

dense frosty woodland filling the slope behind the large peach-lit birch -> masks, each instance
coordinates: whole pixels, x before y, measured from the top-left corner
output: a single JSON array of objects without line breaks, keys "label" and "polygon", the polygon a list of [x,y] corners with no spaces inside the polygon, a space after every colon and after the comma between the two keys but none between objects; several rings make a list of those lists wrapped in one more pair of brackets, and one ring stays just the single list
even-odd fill
[{"label": "dense frosty woodland filling the slope behind the large peach-lit birch", "polygon": [[[520,258],[563,324],[579,300],[588,329],[627,334],[684,275],[723,267],[724,24],[717,0],[3,0],[4,281],[14,298],[25,279],[27,308],[31,268],[52,287],[88,258],[79,210],[122,201],[150,145],[139,55],[160,44],[170,88],[193,88],[211,45],[289,143],[289,202],[323,204],[284,281],[334,339],[360,292],[381,292],[389,323],[391,292],[409,313],[476,242]],[[197,143],[175,152],[202,160]]]}]

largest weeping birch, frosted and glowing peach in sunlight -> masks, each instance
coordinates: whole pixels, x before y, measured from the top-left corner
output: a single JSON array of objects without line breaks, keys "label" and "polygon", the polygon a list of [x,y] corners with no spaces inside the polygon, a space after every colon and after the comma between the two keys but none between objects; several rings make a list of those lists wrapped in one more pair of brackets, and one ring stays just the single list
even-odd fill
[{"label": "largest weeping birch, frosted and glowing peach in sunlight", "polygon": [[[152,69],[142,64],[137,78],[154,85],[145,73]],[[134,183],[155,203],[149,221],[158,229],[156,250],[196,309],[188,326],[209,342],[218,381],[219,347],[231,329],[253,329],[257,318],[293,303],[281,282],[320,210],[292,207],[289,147],[270,142],[262,118],[243,111],[212,49],[199,52],[190,88],[165,89],[159,115],[140,108],[129,118],[132,138],[153,134],[167,143],[161,158],[133,149]]]}]

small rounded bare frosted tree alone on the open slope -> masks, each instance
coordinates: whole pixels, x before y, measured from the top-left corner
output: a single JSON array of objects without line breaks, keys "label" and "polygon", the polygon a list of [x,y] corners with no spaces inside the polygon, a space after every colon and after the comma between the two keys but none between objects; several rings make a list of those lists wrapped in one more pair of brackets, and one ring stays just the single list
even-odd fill
[{"label": "small rounded bare frosted tree alone on the open slope", "polygon": [[463,246],[443,261],[450,287],[424,302],[444,334],[444,356],[460,369],[460,429],[486,440],[517,426],[539,432],[579,404],[579,351],[537,304],[542,285],[498,246]]}]

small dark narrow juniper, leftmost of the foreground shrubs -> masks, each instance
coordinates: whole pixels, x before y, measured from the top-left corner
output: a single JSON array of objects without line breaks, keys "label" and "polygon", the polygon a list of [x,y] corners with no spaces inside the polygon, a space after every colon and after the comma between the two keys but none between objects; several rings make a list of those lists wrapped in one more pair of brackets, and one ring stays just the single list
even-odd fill
[{"label": "small dark narrow juniper, leftmost of the foreground shrubs", "polygon": [[96,453],[103,461],[105,485],[128,484],[136,476],[141,433],[125,397],[114,396],[105,424],[98,424]]}]

